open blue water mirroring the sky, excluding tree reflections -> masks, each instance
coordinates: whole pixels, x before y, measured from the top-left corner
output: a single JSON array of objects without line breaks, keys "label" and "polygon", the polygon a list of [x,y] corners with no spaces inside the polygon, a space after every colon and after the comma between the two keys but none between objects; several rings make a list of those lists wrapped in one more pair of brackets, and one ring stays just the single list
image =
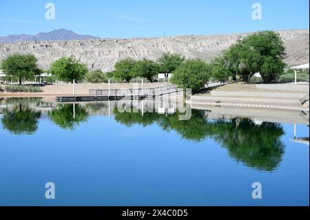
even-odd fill
[{"label": "open blue water mirroring the sky, excluding tree reflections", "polygon": [[[280,128],[280,162],[264,170],[264,161],[251,166],[214,137],[193,141],[157,123],[125,126],[97,115],[71,130],[44,117],[31,135],[0,126],[0,205],[308,206],[309,146],[291,141],[293,124]],[[297,133],[309,137],[309,128]],[[53,201],[44,197],[48,181]],[[251,199],[256,181],[262,200]]]}]

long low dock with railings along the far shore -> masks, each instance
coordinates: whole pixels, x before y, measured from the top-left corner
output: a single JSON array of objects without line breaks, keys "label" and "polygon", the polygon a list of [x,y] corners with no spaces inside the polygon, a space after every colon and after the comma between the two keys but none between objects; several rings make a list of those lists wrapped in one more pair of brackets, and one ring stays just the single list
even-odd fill
[{"label": "long low dock with railings along the far shore", "polygon": [[85,96],[56,97],[59,102],[79,101],[110,101],[110,100],[143,100],[156,99],[166,94],[176,94],[178,89],[173,86],[166,86],[152,89],[112,89],[112,90],[89,90]]}]

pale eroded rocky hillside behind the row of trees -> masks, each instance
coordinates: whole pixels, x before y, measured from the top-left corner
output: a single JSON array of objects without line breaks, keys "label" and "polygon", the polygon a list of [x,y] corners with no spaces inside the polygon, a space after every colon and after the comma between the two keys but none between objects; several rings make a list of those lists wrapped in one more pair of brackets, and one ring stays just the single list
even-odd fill
[{"label": "pale eroded rocky hillside behind the row of trees", "polygon": [[[280,31],[287,48],[289,66],[309,63],[309,30]],[[32,53],[39,66],[48,69],[50,63],[63,56],[74,55],[92,69],[110,71],[114,63],[125,57],[156,60],[163,52],[176,52],[187,58],[210,61],[247,34],[185,36],[137,39],[91,39],[72,41],[41,41],[0,44],[0,61],[8,54]]]}]

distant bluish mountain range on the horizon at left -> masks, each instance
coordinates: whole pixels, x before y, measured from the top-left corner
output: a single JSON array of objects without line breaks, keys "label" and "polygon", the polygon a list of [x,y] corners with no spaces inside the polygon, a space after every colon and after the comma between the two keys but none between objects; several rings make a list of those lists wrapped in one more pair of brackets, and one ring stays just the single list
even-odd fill
[{"label": "distant bluish mountain range on the horizon at left", "polygon": [[30,34],[13,34],[6,37],[0,37],[0,43],[18,43],[28,41],[68,41],[68,40],[85,40],[85,39],[99,39],[92,35],[76,34],[72,30],[59,29],[52,30],[47,33],[39,33],[36,35]]}]

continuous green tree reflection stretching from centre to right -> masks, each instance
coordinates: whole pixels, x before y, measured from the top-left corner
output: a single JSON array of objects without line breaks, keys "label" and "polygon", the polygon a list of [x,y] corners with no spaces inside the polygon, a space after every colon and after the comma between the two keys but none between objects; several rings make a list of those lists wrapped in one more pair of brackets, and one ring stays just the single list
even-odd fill
[{"label": "continuous green tree reflection stretching from centre to right", "polygon": [[192,110],[188,121],[180,121],[179,114],[145,113],[142,116],[141,113],[120,113],[117,109],[114,114],[116,121],[126,126],[156,123],[163,130],[174,130],[187,140],[202,141],[211,137],[227,148],[232,158],[258,170],[276,169],[285,149],[280,140],[284,130],[279,123],[258,125],[250,119],[208,120],[205,112],[198,110]]}]

